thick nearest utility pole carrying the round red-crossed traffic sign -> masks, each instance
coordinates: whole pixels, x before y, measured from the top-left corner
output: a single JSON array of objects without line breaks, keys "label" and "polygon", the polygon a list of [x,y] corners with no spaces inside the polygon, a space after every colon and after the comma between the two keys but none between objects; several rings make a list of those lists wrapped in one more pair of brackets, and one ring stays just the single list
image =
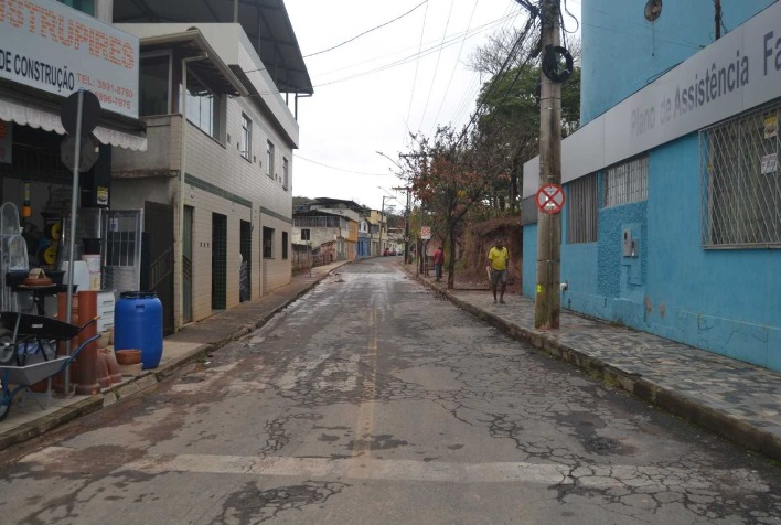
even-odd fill
[{"label": "thick nearest utility pole carrying the round red-crossed traffic sign", "polygon": [[[541,0],[543,53],[560,45],[559,0]],[[561,183],[561,84],[541,72],[539,188]],[[534,326],[558,329],[561,261],[561,214],[537,210],[537,290]]]}]

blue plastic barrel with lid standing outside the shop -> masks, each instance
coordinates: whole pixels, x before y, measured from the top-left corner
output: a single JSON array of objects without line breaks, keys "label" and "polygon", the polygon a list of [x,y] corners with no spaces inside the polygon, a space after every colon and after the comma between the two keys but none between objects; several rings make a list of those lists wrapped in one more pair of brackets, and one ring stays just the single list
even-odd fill
[{"label": "blue plastic barrel with lid standing outside the shop", "polygon": [[153,291],[125,291],[114,309],[114,347],[139,349],[142,368],[162,357],[162,303]]}]

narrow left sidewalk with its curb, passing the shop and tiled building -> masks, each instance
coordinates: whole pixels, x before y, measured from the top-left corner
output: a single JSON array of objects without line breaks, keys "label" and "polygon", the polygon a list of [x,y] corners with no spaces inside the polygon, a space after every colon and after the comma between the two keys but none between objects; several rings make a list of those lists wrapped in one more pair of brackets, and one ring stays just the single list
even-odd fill
[{"label": "narrow left sidewalk with its curb, passing the shop and tiled building", "polygon": [[[10,414],[4,421],[0,422],[0,450],[41,436],[66,421],[154,387],[176,368],[205,358],[210,352],[264,325],[275,313],[325,279],[332,270],[345,264],[340,261],[312,268],[311,276],[309,274],[293,276],[290,285],[272,290],[256,301],[243,302],[236,308],[220,312],[201,322],[188,324],[178,333],[163,340],[162,360],[157,368],[145,371],[136,377],[126,376],[125,381],[100,394],[67,397],[54,394],[50,407],[45,410],[36,403],[40,400],[45,405],[41,394],[28,394],[23,405],[15,403],[14,399]],[[17,396],[19,397],[21,396]]]}]

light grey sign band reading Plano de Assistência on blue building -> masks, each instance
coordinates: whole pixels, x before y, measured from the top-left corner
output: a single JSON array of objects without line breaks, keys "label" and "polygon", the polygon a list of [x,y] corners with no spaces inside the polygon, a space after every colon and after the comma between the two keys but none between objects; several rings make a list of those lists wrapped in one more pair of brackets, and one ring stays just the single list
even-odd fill
[{"label": "light grey sign band reading Plano de Assist\u00eancia on blue building", "polygon": [[781,96],[781,3],[605,115],[608,164]]}]

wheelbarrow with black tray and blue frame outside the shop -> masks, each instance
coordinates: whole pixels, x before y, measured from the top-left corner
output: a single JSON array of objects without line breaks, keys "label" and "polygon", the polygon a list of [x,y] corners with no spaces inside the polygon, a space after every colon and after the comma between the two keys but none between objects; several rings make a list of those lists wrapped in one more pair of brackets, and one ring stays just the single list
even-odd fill
[{"label": "wheelbarrow with black tray and blue frame outside the shop", "polygon": [[[97,318],[83,325],[28,313],[0,312],[0,421],[11,410],[13,397],[33,384],[49,379],[63,372],[78,353],[100,335],[85,340],[71,355],[56,355],[57,343],[71,341]],[[14,385],[14,386],[12,386]]]}]

